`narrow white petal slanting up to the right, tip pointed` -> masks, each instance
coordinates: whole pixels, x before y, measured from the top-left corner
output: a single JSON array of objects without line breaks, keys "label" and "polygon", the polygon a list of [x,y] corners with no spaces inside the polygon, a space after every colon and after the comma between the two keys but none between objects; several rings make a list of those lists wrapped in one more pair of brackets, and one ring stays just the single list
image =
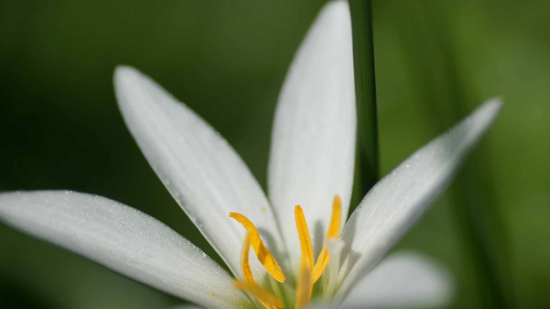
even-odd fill
[{"label": "narrow white petal slanting up to the right, tip pointed", "polygon": [[450,182],[499,109],[497,99],[489,100],[405,159],[367,193],[340,234],[346,243],[340,296],[382,258]]}]

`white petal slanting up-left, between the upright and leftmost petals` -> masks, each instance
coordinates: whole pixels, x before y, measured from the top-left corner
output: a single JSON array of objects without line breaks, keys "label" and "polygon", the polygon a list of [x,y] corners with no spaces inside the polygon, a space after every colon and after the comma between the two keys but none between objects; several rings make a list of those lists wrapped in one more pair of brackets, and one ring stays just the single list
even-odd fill
[{"label": "white petal slanting up-left, between the upright and leftmost petals", "polygon": [[[227,141],[138,70],[118,67],[114,85],[124,120],[147,161],[233,273],[240,275],[245,229],[229,212],[248,217],[276,254],[283,245],[272,209]],[[251,262],[253,271],[265,272]]]}]

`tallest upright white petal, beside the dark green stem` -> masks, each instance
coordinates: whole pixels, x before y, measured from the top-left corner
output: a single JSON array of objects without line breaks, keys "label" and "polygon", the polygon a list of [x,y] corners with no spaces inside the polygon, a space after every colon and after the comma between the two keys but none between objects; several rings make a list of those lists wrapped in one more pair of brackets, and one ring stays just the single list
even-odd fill
[{"label": "tallest upright white petal, beside the dark green stem", "polygon": [[[328,3],[312,25],[279,97],[269,195],[293,261],[300,261],[294,206],[304,209],[320,251],[335,195],[348,214],[355,156],[355,87],[347,1]],[[292,244],[292,245],[291,245]]]}]

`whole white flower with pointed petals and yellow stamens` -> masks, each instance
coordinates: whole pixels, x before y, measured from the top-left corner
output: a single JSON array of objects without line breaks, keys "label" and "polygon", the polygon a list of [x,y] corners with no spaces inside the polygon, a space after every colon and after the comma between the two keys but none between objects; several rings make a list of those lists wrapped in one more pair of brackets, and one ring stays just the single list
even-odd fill
[{"label": "whole white flower with pointed petals and yellow stamens", "polygon": [[449,183],[500,103],[483,104],[412,154],[368,192],[346,223],[356,134],[347,2],[324,7],[284,82],[269,200],[227,141],[147,76],[119,67],[114,85],[151,167],[237,280],[162,222],[105,197],[3,193],[3,222],[209,308],[302,307],[310,297],[351,307],[447,298],[444,275],[414,255],[390,257],[365,275]]}]

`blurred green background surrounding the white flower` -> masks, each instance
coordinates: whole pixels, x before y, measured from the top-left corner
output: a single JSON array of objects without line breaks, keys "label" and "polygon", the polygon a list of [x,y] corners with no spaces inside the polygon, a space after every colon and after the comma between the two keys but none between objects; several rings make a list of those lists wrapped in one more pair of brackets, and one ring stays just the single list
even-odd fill
[{"label": "blurred green background surrounding the white flower", "polygon": [[[216,257],[125,128],[113,69],[133,65],[195,109],[265,187],[278,91],[322,3],[0,2],[0,190],[104,195]],[[483,306],[453,210],[474,187],[517,304],[550,306],[550,2],[374,1],[373,16],[382,175],[486,98],[505,101],[458,185],[395,250],[447,266],[454,307]],[[0,224],[1,308],[178,302]]]}]

